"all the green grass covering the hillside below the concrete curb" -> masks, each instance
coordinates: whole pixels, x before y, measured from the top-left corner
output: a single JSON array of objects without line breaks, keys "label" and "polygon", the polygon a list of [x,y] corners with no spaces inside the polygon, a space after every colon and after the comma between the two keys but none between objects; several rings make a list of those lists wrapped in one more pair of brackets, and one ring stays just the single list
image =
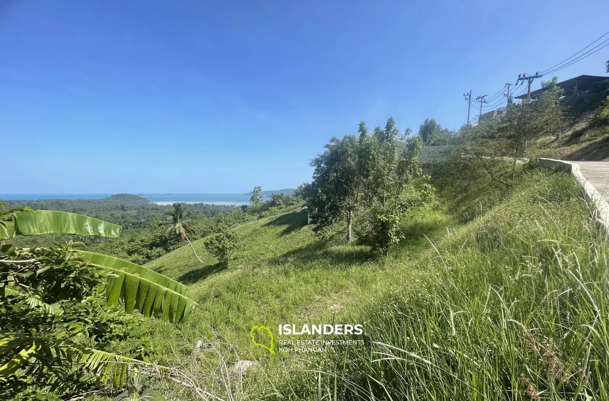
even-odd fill
[{"label": "all the green grass covering the hillside below the concrete curb", "polygon": [[[389,258],[304,223],[292,210],[236,227],[230,269],[200,241],[205,265],[189,247],[148,264],[200,305],[180,326],[147,321],[154,359],[223,399],[608,399],[609,254],[571,177],[527,173],[468,225],[421,211]],[[249,338],[253,325],[333,320],[364,324],[366,345],[269,354]],[[236,378],[238,359],[260,368]]]}]

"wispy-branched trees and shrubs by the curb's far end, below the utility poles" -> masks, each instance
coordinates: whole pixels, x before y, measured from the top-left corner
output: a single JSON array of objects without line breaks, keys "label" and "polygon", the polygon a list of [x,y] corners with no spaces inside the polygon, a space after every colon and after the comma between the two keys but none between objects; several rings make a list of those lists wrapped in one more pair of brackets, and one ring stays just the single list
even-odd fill
[{"label": "wispy-branched trees and shrubs by the curb's far end, below the utility poles", "polygon": [[556,81],[544,81],[547,89],[536,100],[512,103],[505,115],[462,129],[449,160],[435,166],[435,186],[454,200],[451,211],[463,221],[479,216],[514,185],[529,156],[528,142],[563,126],[563,91]]}]

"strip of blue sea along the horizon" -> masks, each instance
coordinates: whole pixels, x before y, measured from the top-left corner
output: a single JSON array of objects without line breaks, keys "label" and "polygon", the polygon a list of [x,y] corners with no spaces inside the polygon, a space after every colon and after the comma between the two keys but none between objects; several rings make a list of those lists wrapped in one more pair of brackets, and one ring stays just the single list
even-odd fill
[{"label": "strip of blue sea along the horizon", "polygon": [[[2,200],[38,200],[38,199],[102,199],[113,194],[0,194]],[[249,195],[243,194],[136,194],[152,200],[158,205],[169,205],[174,202],[185,204],[210,205],[247,205]],[[270,198],[267,198],[270,199]]]}]

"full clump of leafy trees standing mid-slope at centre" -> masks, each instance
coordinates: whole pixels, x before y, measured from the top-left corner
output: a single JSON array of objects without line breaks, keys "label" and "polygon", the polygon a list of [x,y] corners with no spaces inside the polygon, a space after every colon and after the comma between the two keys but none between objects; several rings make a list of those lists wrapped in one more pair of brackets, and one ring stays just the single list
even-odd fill
[{"label": "full clump of leafy trees standing mid-slope at centre", "polygon": [[420,188],[431,188],[426,183],[415,189],[410,186],[411,196],[404,197],[407,186],[421,176],[417,158],[422,141],[396,140],[401,133],[393,118],[372,135],[360,122],[358,132],[359,137],[331,139],[328,150],[312,160],[315,171],[306,202],[316,211],[312,216],[316,234],[346,221],[348,241],[353,231],[358,243],[386,255],[390,244],[400,239],[404,213],[426,202]]}]

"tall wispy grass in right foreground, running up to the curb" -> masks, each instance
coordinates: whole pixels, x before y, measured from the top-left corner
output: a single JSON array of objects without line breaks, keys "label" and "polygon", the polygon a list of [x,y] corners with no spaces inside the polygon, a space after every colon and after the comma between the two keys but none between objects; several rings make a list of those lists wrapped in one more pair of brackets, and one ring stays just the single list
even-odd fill
[{"label": "tall wispy grass in right foreground, running up to the curb", "polygon": [[343,318],[366,346],[300,368],[285,397],[609,399],[609,252],[574,180],[529,173],[434,245]]}]

